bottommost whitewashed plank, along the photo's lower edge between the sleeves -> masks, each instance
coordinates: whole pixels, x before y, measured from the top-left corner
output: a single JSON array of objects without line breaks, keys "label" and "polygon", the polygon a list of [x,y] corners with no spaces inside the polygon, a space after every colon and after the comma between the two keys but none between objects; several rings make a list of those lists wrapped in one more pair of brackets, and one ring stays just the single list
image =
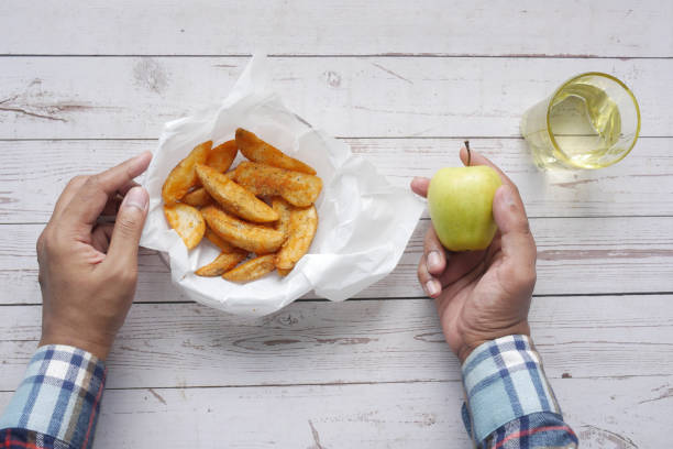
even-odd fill
[{"label": "bottommost whitewashed plank, along the photo's lower edge between the sleeves", "polygon": [[[625,449],[666,447],[671,383],[552,381],[583,447]],[[96,447],[471,448],[462,396],[459,382],[108,390]],[[0,393],[0,409],[10,397]]]}]

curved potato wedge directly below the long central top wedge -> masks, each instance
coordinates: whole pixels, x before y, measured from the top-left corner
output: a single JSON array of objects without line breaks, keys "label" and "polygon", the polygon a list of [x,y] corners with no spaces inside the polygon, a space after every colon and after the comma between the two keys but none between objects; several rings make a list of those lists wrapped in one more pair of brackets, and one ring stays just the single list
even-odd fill
[{"label": "curved potato wedge directly below the long central top wedge", "polygon": [[214,206],[205,207],[201,215],[210,229],[227,242],[257,254],[276,251],[285,240],[280,231],[239,220]]}]

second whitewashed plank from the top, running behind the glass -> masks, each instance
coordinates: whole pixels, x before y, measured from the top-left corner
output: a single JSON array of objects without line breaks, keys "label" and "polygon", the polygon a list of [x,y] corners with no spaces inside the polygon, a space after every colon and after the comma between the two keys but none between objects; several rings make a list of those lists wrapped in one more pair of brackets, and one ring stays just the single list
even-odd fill
[{"label": "second whitewashed plank from the top, running behind the glass", "polygon": [[[4,57],[0,139],[157,138],[219,103],[246,57]],[[563,80],[616,75],[636,92],[642,135],[672,135],[671,59],[280,57],[271,87],[338,136],[518,136],[522,113]]]}]

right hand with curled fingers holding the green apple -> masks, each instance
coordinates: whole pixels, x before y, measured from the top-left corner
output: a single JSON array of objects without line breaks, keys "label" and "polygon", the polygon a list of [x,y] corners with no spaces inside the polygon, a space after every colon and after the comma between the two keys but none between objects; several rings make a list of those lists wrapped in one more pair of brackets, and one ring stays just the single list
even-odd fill
[{"label": "right hand with curled fingers holding the green apple", "polygon": [[[467,161],[465,149],[461,160]],[[528,309],[536,285],[536,242],[517,187],[474,151],[471,165],[488,165],[503,180],[493,200],[498,226],[493,242],[483,251],[450,252],[430,227],[418,264],[418,280],[435,299],[444,337],[461,362],[485,341],[530,335]],[[415,178],[411,189],[424,197],[429,184],[428,178]]]}]

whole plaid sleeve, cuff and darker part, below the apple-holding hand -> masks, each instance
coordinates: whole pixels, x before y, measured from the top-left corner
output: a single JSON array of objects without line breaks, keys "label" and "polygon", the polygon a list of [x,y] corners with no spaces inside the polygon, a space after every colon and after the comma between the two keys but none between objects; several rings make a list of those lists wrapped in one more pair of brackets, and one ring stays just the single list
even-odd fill
[{"label": "whole plaid sleeve, cuff and darker part, below the apple-holding hand", "polygon": [[476,348],[463,363],[463,420],[478,448],[576,448],[527,336]]}]

